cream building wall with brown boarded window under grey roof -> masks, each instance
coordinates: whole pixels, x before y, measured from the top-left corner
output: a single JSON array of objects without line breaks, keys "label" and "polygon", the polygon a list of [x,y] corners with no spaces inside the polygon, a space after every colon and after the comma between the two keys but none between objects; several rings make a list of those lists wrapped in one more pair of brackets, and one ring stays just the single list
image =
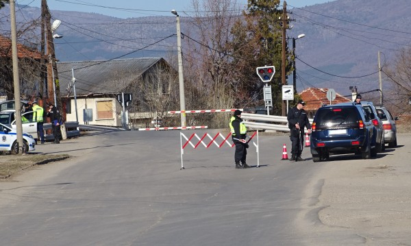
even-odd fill
[{"label": "cream building wall with brown boarded window under grey roof", "polygon": [[[67,103],[70,103],[71,113],[66,114],[66,121],[76,121],[75,100],[71,99]],[[84,118],[86,109],[91,111],[92,114],[88,123],[86,122],[87,119]],[[102,110],[105,110],[105,112]],[[77,114],[80,124],[121,127],[121,110],[120,103],[114,98],[77,98]]]}]

